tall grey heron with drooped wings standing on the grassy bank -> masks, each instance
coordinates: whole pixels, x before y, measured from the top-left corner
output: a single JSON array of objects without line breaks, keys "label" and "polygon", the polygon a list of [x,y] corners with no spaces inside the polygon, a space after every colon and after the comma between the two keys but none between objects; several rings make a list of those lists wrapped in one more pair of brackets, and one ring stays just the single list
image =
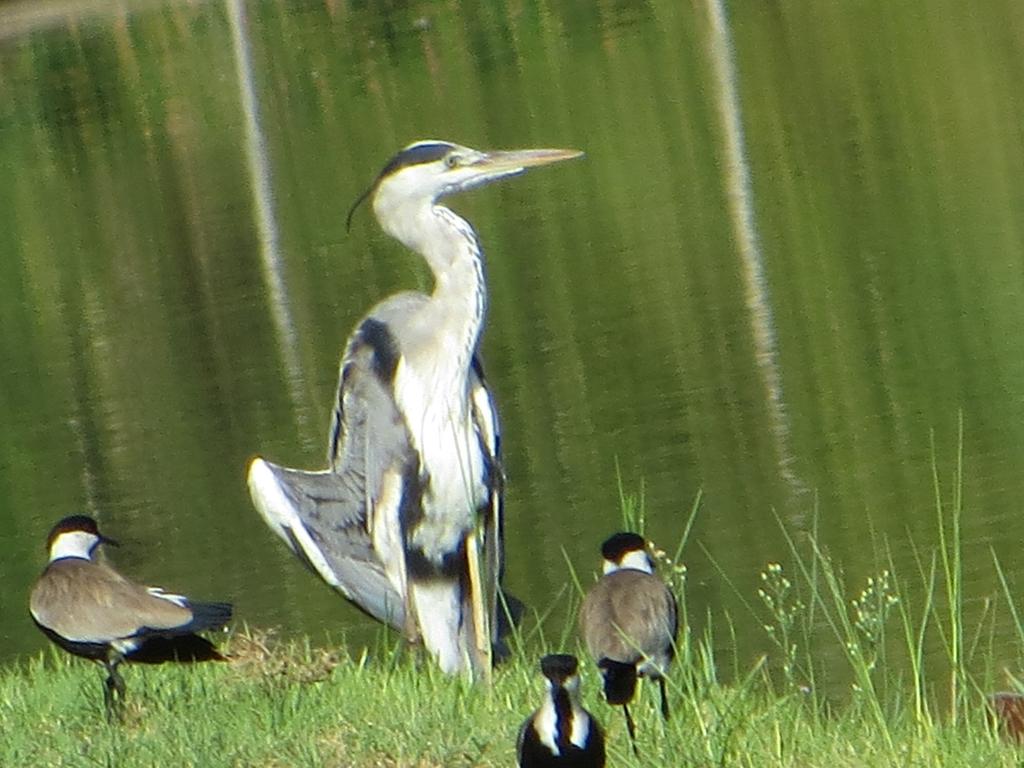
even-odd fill
[{"label": "tall grey heron with drooped wings standing on the grassy bank", "polygon": [[370,198],[385,232],[420,254],[428,295],[390,296],[356,325],[341,359],[328,467],[250,465],[257,510],[328,584],[422,640],[446,673],[489,675],[504,567],[498,413],[477,347],[483,252],[449,195],[579,157],[417,141]]}]

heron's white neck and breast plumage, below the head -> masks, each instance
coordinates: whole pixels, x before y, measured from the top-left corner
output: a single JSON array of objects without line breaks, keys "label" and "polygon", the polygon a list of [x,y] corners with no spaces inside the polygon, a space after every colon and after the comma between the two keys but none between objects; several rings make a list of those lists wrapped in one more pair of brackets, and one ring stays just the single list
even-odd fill
[{"label": "heron's white neck and breast plumage, below the head", "polygon": [[481,450],[470,397],[486,285],[479,242],[468,222],[437,205],[412,213],[418,239],[402,242],[427,260],[434,290],[392,297],[372,315],[395,340],[394,401],[420,458],[420,509],[408,536],[439,564],[460,548],[490,493],[493,457]]}]

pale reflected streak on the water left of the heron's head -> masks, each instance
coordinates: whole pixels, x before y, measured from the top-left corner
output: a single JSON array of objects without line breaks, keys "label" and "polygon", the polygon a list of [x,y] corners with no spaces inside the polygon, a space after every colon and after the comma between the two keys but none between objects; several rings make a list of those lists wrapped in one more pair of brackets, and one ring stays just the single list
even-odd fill
[{"label": "pale reflected streak on the water left of the heron's head", "polygon": [[234,47],[234,67],[242,98],[246,126],[246,163],[252,180],[253,205],[259,229],[260,263],[263,282],[270,302],[270,315],[278,336],[278,349],[288,379],[288,396],[295,413],[299,439],[309,440],[309,408],[303,397],[306,377],[299,361],[295,323],[288,300],[288,289],[281,268],[278,223],[273,213],[273,193],[270,188],[270,164],[267,161],[266,141],[259,120],[259,98],[253,80],[252,57],[249,53],[248,22],[243,0],[226,0],[227,19],[231,26]]}]

